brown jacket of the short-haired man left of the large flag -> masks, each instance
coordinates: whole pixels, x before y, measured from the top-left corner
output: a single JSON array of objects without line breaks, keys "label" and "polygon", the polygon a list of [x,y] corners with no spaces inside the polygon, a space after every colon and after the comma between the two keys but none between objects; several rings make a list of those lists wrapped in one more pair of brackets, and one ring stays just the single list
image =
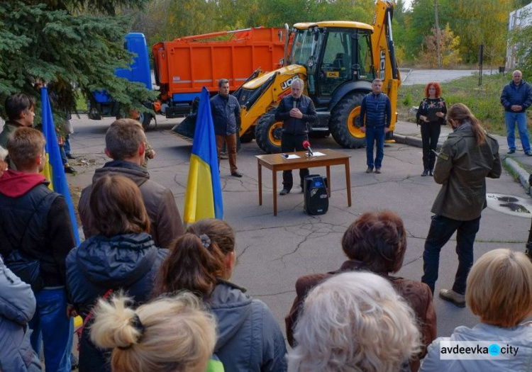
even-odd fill
[{"label": "brown jacket of the short-haired man left of the large flag", "polygon": [[[174,194],[168,188],[151,181],[148,171],[131,162],[113,160],[106,163],[104,167],[96,169],[92,184],[106,174],[127,177],[140,188],[146,211],[150,217],[150,234],[156,247],[170,248],[170,243],[184,234],[183,222],[175,205]],[[94,220],[89,208],[91,191],[92,185],[83,189],[78,205],[79,219],[82,220],[85,238],[96,235]]]}]

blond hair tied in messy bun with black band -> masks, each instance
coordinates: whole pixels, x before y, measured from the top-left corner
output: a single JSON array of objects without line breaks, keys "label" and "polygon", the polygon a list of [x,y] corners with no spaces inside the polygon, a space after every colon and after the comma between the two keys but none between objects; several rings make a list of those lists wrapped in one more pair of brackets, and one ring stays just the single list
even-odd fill
[{"label": "blond hair tied in messy bun with black band", "polygon": [[192,293],[159,298],[133,310],[122,294],[99,300],[92,342],[113,349],[113,372],[204,372],[216,344],[214,317]]}]

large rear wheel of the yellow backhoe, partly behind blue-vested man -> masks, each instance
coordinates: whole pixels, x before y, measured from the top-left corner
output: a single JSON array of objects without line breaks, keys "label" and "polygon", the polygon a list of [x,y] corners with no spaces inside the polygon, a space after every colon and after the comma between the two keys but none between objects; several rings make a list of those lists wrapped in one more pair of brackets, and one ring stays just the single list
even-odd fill
[{"label": "large rear wheel of the yellow backhoe, partly behind blue-vested man", "polygon": [[353,93],[343,97],[333,108],[329,129],[338,145],[347,149],[358,149],[366,145],[365,133],[355,125],[360,114],[360,104],[365,94]]}]

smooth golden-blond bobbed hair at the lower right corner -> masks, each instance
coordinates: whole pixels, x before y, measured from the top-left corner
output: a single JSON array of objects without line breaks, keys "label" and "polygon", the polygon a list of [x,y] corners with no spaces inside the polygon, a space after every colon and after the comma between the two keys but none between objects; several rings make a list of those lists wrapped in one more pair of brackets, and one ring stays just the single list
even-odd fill
[{"label": "smooth golden-blond bobbed hair at the lower right corner", "polygon": [[532,313],[532,263],[521,252],[494,249],[467,276],[465,300],[484,323],[514,327]]}]

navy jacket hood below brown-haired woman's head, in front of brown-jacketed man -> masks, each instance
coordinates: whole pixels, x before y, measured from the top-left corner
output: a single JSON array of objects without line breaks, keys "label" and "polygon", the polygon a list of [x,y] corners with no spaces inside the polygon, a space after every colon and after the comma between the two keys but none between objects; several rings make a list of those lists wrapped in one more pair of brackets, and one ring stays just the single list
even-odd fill
[{"label": "navy jacket hood below brown-haired woman's head, in front of brown-jacketed man", "polygon": [[77,248],[77,267],[97,286],[128,287],[143,278],[157,259],[151,235],[95,235]]}]

